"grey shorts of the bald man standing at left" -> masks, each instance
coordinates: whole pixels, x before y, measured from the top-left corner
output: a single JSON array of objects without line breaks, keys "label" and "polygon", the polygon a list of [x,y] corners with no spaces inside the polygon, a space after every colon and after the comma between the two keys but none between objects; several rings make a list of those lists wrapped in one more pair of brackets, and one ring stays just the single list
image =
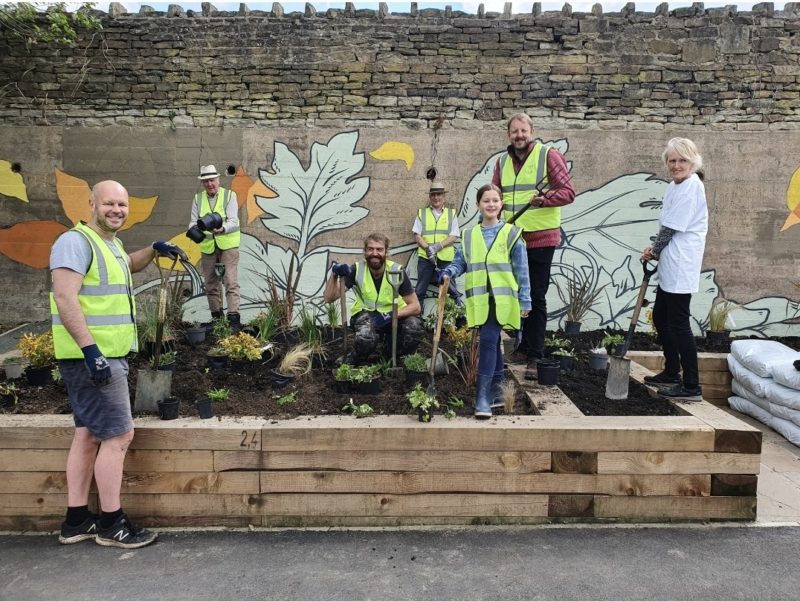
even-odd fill
[{"label": "grey shorts of the bald man standing at left", "polygon": [[111,381],[96,386],[82,359],[58,362],[67,385],[69,403],[76,428],[88,428],[92,436],[105,440],[133,430],[131,400],[128,392],[127,359],[109,359]]}]

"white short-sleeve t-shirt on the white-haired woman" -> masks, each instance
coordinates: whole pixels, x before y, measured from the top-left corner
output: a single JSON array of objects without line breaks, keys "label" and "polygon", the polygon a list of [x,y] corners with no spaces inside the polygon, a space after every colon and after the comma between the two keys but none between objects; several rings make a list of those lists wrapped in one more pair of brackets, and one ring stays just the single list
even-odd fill
[{"label": "white short-sleeve t-shirt on the white-haired woman", "polygon": [[708,233],[706,191],[697,174],[667,186],[659,224],[675,230],[658,257],[659,286],[674,294],[697,292]]}]

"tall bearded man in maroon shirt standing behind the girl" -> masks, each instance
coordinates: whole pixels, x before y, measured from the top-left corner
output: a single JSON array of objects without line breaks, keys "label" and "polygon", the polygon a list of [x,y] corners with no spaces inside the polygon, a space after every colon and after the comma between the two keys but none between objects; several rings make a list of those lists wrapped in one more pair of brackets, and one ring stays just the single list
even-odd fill
[{"label": "tall bearded man in maroon shirt standing behind the girl", "polygon": [[522,324],[522,344],[513,362],[527,363],[526,377],[536,377],[536,361],[544,356],[547,290],[553,254],[561,244],[561,208],[575,200],[575,189],[564,156],[533,139],[533,121],[518,113],[508,120],[506,152],[497,159],[492,183],[503,192],[504,219],[523,204],[531,209],[516,222],[523,230],[531,280],[530,315]]}]

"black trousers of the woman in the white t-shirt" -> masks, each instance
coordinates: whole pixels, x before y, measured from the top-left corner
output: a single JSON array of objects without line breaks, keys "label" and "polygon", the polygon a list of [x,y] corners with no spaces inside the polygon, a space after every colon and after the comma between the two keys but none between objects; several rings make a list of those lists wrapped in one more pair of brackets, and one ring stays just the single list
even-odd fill
[{"label": "black trousers of the woman in the white t-shirt", "polygon": [[700,386],[700,375],[689,312],[691,301],[691,294],[673,294],[659,286],[653,307],[653,325],[658,333],[658,342],[664,349],[664,371],[677,375],[683,369],[683,385],[697,388]]}]

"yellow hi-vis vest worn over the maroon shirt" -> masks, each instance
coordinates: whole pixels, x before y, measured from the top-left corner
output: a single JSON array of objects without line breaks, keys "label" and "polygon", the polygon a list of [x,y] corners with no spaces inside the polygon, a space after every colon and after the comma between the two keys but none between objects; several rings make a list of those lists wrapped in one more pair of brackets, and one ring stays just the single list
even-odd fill
[{"label": "yellow hi-vis vest worn over the maroon shirt", "polygon": [[[537,142],[519,173],[514,173],[514,161],[504,154],[500,160],[500,190],[503,192],[503,219],[508,221],[519,209],[530,203],[531,196],[547,184],[547,152],[549,148]],[[544,178],[544,179],[542,179]],[[561,227],[561,207],[531,208],[514,223],[523,232],[538,232]]]}]

